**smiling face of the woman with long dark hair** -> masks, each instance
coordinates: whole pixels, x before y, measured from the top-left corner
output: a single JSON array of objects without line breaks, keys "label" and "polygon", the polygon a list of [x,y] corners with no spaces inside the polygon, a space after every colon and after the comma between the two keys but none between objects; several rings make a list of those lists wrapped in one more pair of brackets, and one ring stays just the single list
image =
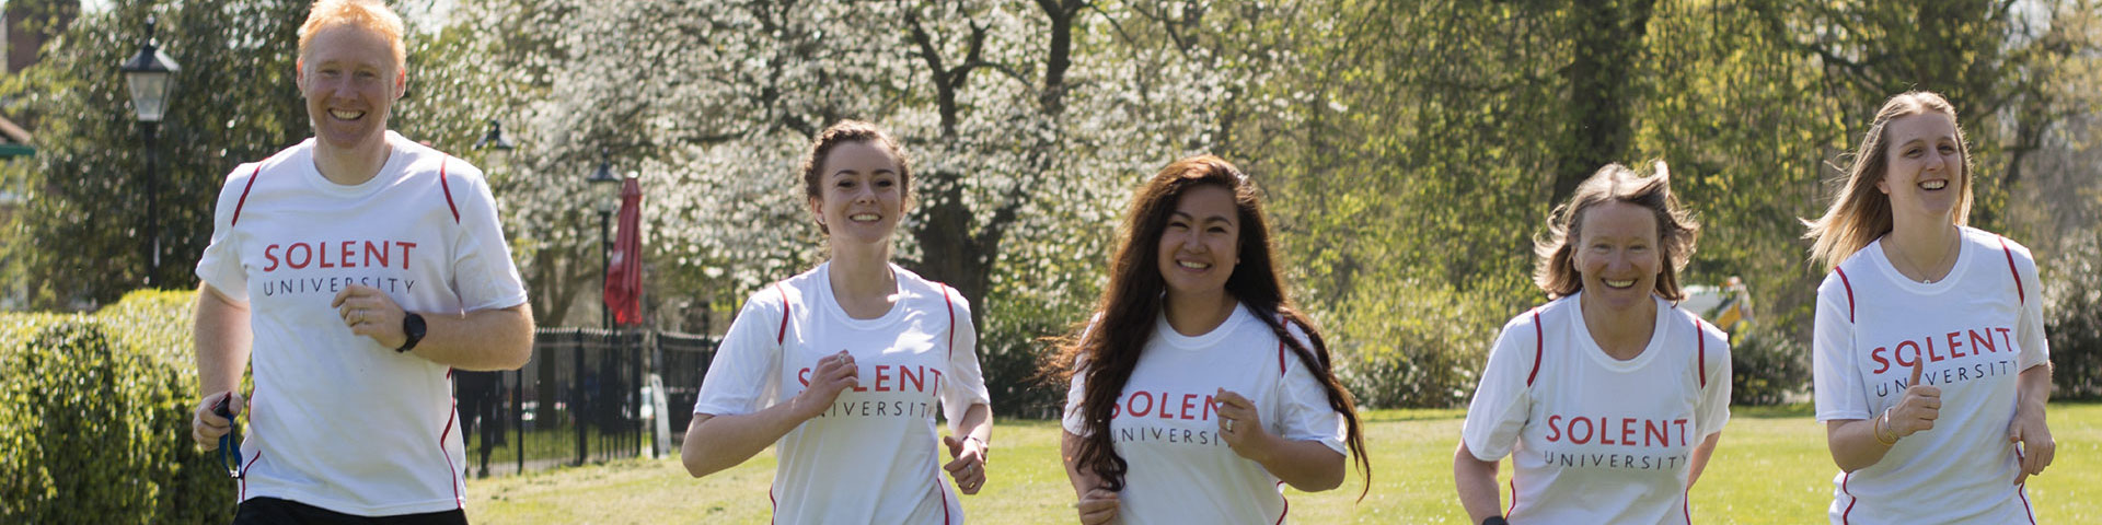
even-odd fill
[{"label": "smiling face of the woman with long dark hair", "polygon": [[1169,284],[1169,302],[1175,296],[1223,294],[1238,262],[1240,208],[1234,206],[1234,191],[1217,185],[1186,189],[1160,231],[1158,267]]}]

